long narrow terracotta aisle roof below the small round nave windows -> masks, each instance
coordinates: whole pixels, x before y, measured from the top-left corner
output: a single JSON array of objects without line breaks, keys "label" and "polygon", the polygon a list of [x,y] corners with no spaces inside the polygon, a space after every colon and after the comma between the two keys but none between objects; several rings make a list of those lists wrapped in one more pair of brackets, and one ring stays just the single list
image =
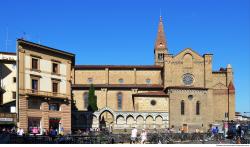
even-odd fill
[{"label": "long narrow terracotta aisle roof below the small round nave windows", "polygon": [[[73,84],[72,89],[89,89],[90,84]],[[95,88],[112,88],[112,89],[163,89],[163,85],[158,84],[94,84]]]}]

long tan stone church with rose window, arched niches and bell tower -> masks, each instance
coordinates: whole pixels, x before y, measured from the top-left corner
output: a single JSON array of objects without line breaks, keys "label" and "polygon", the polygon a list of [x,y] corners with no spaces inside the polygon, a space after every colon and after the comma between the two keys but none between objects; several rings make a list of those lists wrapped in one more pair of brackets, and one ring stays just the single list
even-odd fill
[{"label": "long tan stone church with rose window, arched niches and bell tower", "polygon": [[[75,65],[72,72],[72,129],[132,127],[186,132],[233,120],[235,88],[231,65],[212,70],[212,54],[186,48],[168,52],[160,18],[154,65]],[[88,91],[93,84],[98,111],[90,114]]]}]

